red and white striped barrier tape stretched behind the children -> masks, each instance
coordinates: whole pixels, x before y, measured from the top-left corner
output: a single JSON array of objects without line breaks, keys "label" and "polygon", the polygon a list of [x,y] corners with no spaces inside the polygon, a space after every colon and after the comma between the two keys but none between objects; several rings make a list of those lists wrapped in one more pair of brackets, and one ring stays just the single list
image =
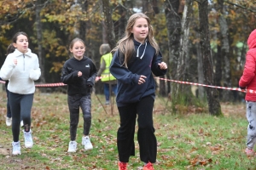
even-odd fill
[{"label": "red and white striped barrier tape stretched behind the children", "polygon": [[[177,80],[169,80],[169,79],[160,78],[160,77],[154,77],[154,78],[168,81],[168,82],[177,82],[177,83],[190,84],[190,85],[202,86],[202,87],[207,87],[207,88],[220,88],[220,89],[226,89],[226,90],[236,90],[236,91],[243,92],[243,93],[256,94],[256,90],[251,90],[251,89],[244,90],[241,88],[225,88],[225,87],[212,86],[212,85],[206,85],[206,84],[195,83],[195,82],[183,82],[183,81],[177,81]],[[99,79],[102,79],[102,77],[96,77],[96,81],[98,81]],[[0,83],[5,83],[5,82],[0,81]],[[36,84],[35,86],[37,88],[45,88],[45,87],[59,87],[59,86],[66,86],[66,85],[67,84],[64,84],[62,82],[57,82],[57,83]]]}]

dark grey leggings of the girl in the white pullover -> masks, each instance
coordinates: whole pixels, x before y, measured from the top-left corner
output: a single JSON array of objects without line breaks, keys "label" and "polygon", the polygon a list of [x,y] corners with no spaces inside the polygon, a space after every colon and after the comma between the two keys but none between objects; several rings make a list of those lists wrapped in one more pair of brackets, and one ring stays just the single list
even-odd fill
[{"label": "dark grey leggings of the girl in the white pullover", "polygon": [[31,110],[34,94],[14,94],[9,92],[9,105],[12,112],[12,132],[14,142],[19,141],[20,116],[26,132],[30,131]]}]

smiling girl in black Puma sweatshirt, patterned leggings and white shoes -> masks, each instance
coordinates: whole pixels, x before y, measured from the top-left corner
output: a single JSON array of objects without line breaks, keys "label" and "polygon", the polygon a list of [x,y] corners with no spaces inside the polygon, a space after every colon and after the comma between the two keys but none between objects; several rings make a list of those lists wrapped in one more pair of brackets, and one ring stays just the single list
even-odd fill
[{"label": "smiling girl in black Puma sweatshirt, patterned leggings and white shoes", "polygon": [[89,133],[91,125],[90,94],[96,78],[96,66],[91,59],[84,56],[85,43],[80,38],[74,38],[69,46],[73,54],[63,65],[61,82],[67,84],[67,103],[70,112],[70,139],[67,152],[77,150],[77,128],[79,124],[79,107],[84,117],[84,132],[82,144],[84,150],[93,148],[90,143]]}]

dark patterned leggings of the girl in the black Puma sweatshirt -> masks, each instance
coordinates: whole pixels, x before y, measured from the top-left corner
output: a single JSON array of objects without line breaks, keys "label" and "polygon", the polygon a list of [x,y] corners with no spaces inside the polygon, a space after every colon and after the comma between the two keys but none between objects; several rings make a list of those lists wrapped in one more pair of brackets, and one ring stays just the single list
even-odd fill
[{"label": "dark patterned leggings of the girl in the black Puma sweatshirt", "polygon": [[84,135],[87,136],[90,133],[91,125],[91,102],[90,94],[88,95],[68,95],[67,103],[70,112],[70,139],[76,140],[77,128],[79,125],[79,108],[83,111],[84,117]]}]

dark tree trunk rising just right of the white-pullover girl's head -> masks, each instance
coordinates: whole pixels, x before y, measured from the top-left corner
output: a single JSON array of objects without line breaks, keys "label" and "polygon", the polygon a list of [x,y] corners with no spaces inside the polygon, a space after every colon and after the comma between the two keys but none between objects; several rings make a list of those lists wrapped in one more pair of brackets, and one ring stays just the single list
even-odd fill
[{"label": "dark tree trunk rising just right of the white-pullover girl's head", "polygon": [[37,39],[38,39],[38,59],[39,59],[39,65],[41,69],[41,77],[40,82],[45,82],[44,77],[44,57],[43,57],[43,46],[42,46],[42,23],[41,23],[41,17],[40,12],[41,8],[39,6],[41,1],[36,1],[36,29],[37,29]]}]

